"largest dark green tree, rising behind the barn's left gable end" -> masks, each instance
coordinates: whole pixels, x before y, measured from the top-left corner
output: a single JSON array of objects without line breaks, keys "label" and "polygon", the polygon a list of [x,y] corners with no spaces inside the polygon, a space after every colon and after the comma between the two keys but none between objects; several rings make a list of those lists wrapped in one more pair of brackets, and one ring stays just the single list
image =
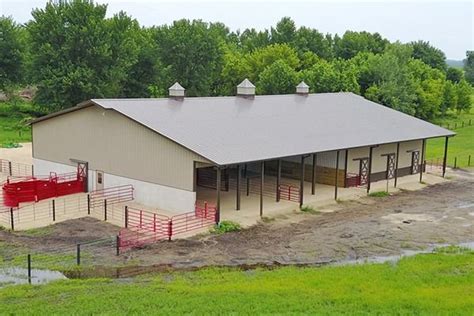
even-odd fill
[{"label": "largest dark green tree, rising behind the barn's left gable end", "polygon": [[[48,2],[44,9],[33,10],[28,31],[38,86],[35,99],[48,110],[114,96],[120,87],[117,81],[123,76],[115,69],[106,10],[87,0]],[[127,58],[120,56],[121,61]]]}]

